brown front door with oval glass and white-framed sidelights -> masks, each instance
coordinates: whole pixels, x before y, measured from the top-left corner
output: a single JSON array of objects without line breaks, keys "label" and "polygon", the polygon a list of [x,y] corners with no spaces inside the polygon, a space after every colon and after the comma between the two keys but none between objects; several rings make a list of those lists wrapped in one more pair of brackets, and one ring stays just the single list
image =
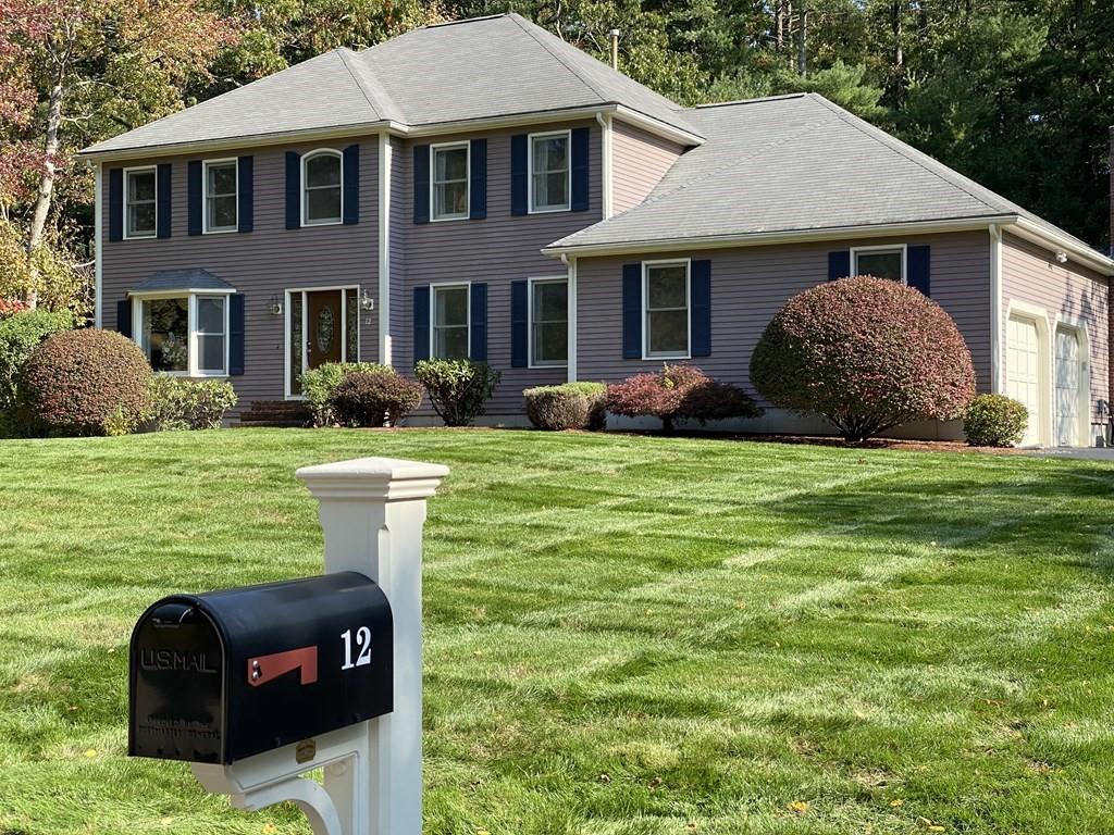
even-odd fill
[{"label": "brown front door with oval glass and white-framed sidelights", "polygon": [[359,361],[359,287],[286,291],[286,302],[287,386],[296,397],[310,369]]}]

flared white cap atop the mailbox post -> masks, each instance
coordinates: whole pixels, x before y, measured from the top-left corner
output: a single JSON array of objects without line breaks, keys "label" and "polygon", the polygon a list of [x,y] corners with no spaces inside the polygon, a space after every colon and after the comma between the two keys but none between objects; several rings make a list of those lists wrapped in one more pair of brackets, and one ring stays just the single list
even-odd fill
[{"label": "flared white cap atop the mailbox post", "polygon": [[433,495],[449,468],[397,458],[358,458],[303,466],[294,474],[319,500],[397,501]]}]

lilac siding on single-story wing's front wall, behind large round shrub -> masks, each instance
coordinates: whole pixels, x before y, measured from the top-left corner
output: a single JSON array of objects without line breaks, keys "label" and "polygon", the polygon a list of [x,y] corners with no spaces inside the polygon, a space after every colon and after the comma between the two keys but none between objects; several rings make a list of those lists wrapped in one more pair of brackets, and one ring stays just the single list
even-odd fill
[{"label": "lilac siding on single-story wing's front wall, behind large round shrub", "polygon": [[[770,320],[793,295],[828,277],[828,253],[896,238],[654,254],[712,262],[712,354],[694,361],[709,374],[752,394],[751,352]],[[970,347],[981,391],[990,383],[990,242],[987,233],[916,236],[931,246],[932,297],[956,320]],[[613,382],[661,367],[661,361],[624,360],[623,265],[638,256],[582,258],[577,263],[577,377]]]}]

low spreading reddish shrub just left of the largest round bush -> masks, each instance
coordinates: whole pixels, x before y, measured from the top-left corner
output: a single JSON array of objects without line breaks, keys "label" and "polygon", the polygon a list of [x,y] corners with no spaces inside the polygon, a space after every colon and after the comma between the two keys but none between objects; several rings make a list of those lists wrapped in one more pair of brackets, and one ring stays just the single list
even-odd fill
[{"label": "low spreading reddish shrub just left of the largest round bush", "polygon": [[684,418],[705,423],[762,414],[742,389],[712,380],[693,365],[664,365],[659,372],[607,386],[607,410],[627,418],[659,418],[666,432]]}]

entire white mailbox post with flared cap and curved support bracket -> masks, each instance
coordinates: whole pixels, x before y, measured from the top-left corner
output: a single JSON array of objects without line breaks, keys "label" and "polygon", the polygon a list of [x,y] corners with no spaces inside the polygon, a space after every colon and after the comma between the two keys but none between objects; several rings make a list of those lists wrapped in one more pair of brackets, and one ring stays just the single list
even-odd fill
[{"label": "entire white mailbox post with flared cap and curved support bracket", "polygon": [[[228,766],[194,764],[237,808],[292,800],[315,835],[420,835],[422,824],[421,570],[426,500],[449,470],[364,458],[304,466],[320,503],[325,573],[359,571],[387,595],[394,621],[394,709],[377,719]],[[324,768],[322,788],[301,775]]]}]

